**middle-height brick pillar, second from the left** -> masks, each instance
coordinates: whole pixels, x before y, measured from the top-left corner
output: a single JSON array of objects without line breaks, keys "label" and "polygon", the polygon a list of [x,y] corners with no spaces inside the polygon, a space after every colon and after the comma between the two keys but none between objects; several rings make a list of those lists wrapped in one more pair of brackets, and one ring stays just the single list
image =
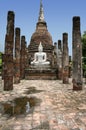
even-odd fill
[{"label": "middle-height brick pillar, second from the left", "polygon": [[14,83],[20,83],[20,28],[15,29]]}]

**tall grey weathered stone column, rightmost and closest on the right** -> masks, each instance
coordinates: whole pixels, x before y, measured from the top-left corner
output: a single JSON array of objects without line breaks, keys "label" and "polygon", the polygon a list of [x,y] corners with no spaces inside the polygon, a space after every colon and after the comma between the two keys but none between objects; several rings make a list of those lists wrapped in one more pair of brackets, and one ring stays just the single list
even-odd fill
[{"label": "tall grey weathered stone column, rightmost and closest on the right", "polygon": [[73,90],[82,90],[82,44],[80,17],[73,17]]}]

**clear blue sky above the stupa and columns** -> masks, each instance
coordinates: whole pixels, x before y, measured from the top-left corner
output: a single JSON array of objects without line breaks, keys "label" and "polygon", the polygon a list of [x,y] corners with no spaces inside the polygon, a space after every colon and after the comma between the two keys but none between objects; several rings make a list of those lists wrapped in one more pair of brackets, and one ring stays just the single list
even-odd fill
[{"label": "clear blue sky above the stupa and columns", "polygon": [[[42,0],[45,21],[53,43],[68,33],[69,54],[72,55],[72,18],[80,16],[81,34],[86,31],[86,0]],[[38,22],[40,0],[0,0],[0,51],[4,52],[7,13],[14,11],[15,27],[21,28],[27,45]]]}]

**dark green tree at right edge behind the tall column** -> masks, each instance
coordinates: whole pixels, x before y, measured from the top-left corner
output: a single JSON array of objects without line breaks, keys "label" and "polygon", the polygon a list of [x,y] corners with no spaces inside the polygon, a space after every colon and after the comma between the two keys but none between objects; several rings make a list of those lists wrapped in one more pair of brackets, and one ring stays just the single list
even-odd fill
[{"label": "dark green tree at right edge behind the tall column", "polygon": [[83,75],[86,74],[86,31],[82,35],[82,67],[83,67]]}]

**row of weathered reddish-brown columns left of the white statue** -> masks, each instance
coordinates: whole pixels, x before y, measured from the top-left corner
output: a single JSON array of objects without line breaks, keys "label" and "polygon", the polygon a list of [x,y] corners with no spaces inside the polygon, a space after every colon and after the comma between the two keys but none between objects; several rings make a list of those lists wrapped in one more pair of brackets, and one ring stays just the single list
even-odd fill
[{"label": "row of weathered reddish-brown columns left of the white statue", "polygon": [[20,35],[20,28],[15,28],[14,23],[14,12],[9,11],[5,36],[5,54],[3,55],[3,79],[4,90],[6,91],[13,90],[13,83],[19,83],[20,79],[24,78],[25,70],[25,36]]}]

